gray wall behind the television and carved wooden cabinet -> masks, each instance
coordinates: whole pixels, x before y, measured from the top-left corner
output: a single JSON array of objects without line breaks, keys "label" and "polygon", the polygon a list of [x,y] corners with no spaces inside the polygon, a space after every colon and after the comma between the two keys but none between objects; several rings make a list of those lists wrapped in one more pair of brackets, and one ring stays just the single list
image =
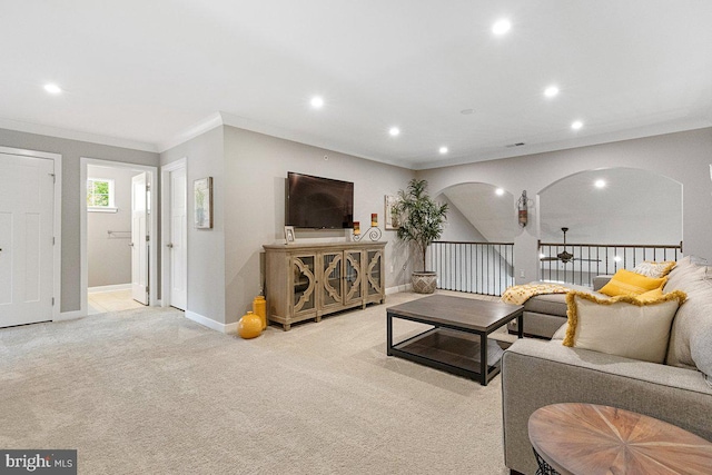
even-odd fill
[{"label": "gray wall behind the television and carved wooden cabinet", "polygon": [[[407,250],[395,231],[384,230],[385,195],[405,188],[413,171],[297,144],[235,127],[225,127],[225,281],[226,323],[251,309],[260,290],[264,244],[284,243],[287,171],[354,182],[354,220],[366,231],[378,214],[386,246],[386,287],[404,285]],[[325,156],[328,159],[325,159]],[[298,240],[348,240],[350,231],[297,230]],[[367,237],[364,237],[367,239]]]}]

